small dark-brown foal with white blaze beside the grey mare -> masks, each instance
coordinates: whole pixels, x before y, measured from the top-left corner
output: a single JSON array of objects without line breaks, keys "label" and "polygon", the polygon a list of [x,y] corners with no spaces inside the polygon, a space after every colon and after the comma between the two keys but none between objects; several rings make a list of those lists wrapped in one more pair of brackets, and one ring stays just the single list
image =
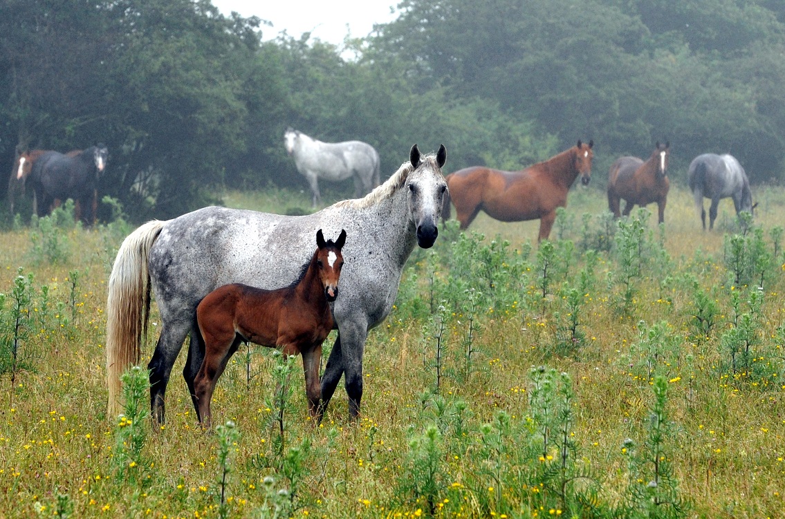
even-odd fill
[{"label": "small dark-brown foal with white blaze beside the grey mare", "polygon": [[345,230],[337,241],[324,241],[319,229],[316,252],[298,281],[288,287],[264,290],[235,283],[223,285],[202,299],[196,307],[196,321],[204,339],[205,357],[194,379],[193,401],[196,416],[204,426],[210,427],[210,400],[217,379],[243,341],[276,347],[285,355],[302,354],[308,410],[321,419],[322,343],[334,325],[327,303],[338,295],[345,241]]}]

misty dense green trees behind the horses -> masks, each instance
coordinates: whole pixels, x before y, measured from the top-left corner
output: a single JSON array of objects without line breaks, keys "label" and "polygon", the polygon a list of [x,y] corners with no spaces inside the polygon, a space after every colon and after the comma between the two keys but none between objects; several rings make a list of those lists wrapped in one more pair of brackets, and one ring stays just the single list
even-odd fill
[{"label": "misty dense green trees behind the horses", "polygon": [[782,0],[399,9],[339,48],[308,34],[261,42],[261,20],[209,0],[2,0],[0,164],[17,145],[107,143],[100,192],[137,219],[194,209],[210,187],[304,186],[288,125],[366,140],[387,174],[415,142],[444,143],[450,169],[519,169],[592,138],[600,185],[613,158],[655,140],[674,144],[677,177],[707,151],[735,154],[754,183],[782,177]]}]

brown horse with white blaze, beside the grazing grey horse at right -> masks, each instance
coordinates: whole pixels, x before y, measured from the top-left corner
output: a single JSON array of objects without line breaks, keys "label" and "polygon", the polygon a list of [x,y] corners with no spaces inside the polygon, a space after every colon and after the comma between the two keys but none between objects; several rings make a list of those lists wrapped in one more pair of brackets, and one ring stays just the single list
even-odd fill
[{"label": "brown horse with white blaze, beside the grazing grey horse at right", "polygon": [[665,204],[668,198],[668,155],[670,143],[655,145],[652,156],[643,162],[637,157],[621,157],[608,172],[608,209],[619,218],[619,199],[624,198],[624,216],[628,216],[633,205],[657,203],[659,223],[665,221]]}]

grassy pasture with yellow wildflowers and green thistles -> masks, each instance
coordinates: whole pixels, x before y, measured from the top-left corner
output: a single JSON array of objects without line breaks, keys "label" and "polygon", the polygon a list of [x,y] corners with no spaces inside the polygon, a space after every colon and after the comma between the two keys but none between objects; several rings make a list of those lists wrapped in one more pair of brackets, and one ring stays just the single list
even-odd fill
[{"label": "grassy pasture with yellow wildflowers and green thistles", "polygon": [[133,227],[83,230],[66,205],[0,234],[0,517],[782,517],[785,191],[754,201],[753,227],[726,200],[704,232],[681,185],[664,227],[575,187],[539,249],[537,220],[452,221],[369,333],[356,422],[340,384],[315,426],[299,359],[241,346],[212,434],[184,351],[165,426],[144,370],[107,418],[106,285]]}]

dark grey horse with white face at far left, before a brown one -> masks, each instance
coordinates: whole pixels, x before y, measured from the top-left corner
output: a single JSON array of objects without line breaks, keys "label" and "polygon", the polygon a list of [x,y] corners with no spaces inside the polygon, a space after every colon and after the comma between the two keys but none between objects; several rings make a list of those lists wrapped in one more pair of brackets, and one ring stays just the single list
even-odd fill
[{"label": "dark grey horse with white face at far left, before a brown one", "polygon": [[30,173],[30,180],[35,188],[38,216],[42,216],[42,207],[49,212],[49,207],[56,200],[73,198],[76,203],[76,219],[84,220],[89,225],[95,223],[98,208],[96,184],[100,172],[106,167],[107,158],[108,151],[103,144],[89,147],[74,155],[57,151],[42,154],[33,164]]}]

